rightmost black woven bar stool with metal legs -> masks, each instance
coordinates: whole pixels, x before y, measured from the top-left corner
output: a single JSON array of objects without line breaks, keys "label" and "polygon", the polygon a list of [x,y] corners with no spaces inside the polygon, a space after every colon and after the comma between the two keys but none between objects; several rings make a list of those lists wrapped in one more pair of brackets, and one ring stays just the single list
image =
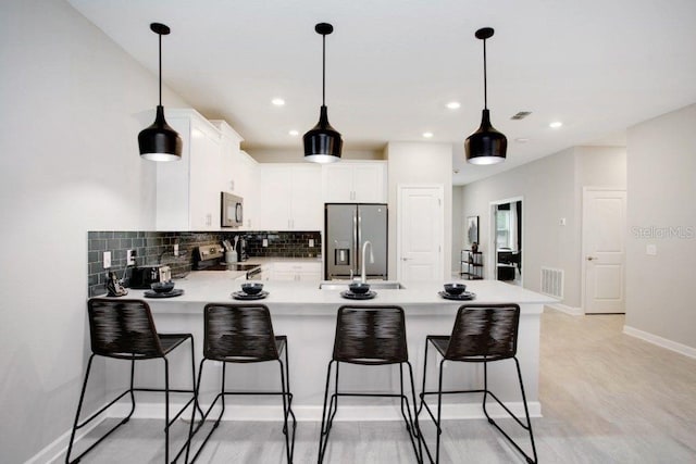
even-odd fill
[{"label": "rightmost black woven bar stool with metal legs", "polygon": [[[435,463],[439,462],[439,438],[443,432],[440,427],[440,412],[443,394],[449,393],[484,393],[483,394],[483,412],[488,419],[488,423],[495,426],[510,443],[526,459],[527,463],[536,463],[536,447],[534,446],[534,434],[532,432],[532,422],[530,421],[530,412],[526,405],[526,397],[524,396],[524,385],[522,383],[522,372],[520,371],[520,362],[518,361],[517,347],[518,347],[518,326],[520,323],[520,306],[514,303],[506,304],[464,304],[457,311],[457,318],[455,319],[455,326],[451,335],[438,336],[428,335],[425,338],[425,362],[423,365],[423,390],[421,392],[421,404],[418,410],[418,415],[421,414],[423,406],[427,410],[431,418],[435,423],[437,430],[436,438],[436,451]],[[439,362],[439,380],[437,391],[425,391],[425,377],[427,374],[427,347],[432,344],[437,353],[443,358]],[[490,362],[502,361],[512,359],[517,367],[518,379],[520,383],[520,391],[522,392],[522,403],[524,404],[524,415],[526,423],[520,421],[502,401],[498,399],[490,390],[488,390],[488,371],[487,365]],[[445,361],[464,362],[464,363],[483,363],[483,389],[478,390],[443,390],[443,367]],[[431,411],[431,407],[425,402],[427,394],[437,394],[437,417]],[[494,400],[502,406],[505,411],[525,430],[530,434],[530,441],[532,442],[532,452],[534,459],[530,457],[518,443],[510,438],[508,434],[490,418],[486,411],[486,400],[490,396]],[[431,454],[427,443],[421,434],[425,451],[431,462],[433,462],[433,455]]]}]

